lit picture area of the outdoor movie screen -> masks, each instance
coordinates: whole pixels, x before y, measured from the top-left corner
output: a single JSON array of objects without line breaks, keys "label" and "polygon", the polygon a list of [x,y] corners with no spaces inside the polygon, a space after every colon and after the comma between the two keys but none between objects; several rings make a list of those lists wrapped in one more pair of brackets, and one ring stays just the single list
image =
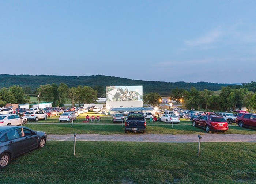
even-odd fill
[{"label": "lit picture area of the outdoor movie screen", "polygon": [[142,86],[107,86],[107,101],[142,101]]}]

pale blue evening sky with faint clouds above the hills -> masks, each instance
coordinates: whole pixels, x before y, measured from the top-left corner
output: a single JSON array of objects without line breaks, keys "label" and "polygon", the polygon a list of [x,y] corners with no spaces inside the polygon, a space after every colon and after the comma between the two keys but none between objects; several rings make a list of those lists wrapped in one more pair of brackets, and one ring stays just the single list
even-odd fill
[{"label": "pale blue evening sky with faint clouds above the hills", "polygon": [[255,0],[0,1],[0,74],[256,81]]}]

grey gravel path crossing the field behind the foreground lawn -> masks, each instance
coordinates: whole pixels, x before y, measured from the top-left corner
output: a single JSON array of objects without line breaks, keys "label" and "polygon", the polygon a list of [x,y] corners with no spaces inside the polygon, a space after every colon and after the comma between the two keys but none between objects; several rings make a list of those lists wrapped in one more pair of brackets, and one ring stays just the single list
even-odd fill
[{"label": "grey gravel path crossing the field behind the foreground lawn", "polygon": [[[256,135],[205,134],[201,142],[256,142]],[[124,141],[124,142],[198,142],[197,135],[128,134],[99,135],[78,134],[77,141]],[[48,135],[48,141],[74,141],[74,135]]]}]

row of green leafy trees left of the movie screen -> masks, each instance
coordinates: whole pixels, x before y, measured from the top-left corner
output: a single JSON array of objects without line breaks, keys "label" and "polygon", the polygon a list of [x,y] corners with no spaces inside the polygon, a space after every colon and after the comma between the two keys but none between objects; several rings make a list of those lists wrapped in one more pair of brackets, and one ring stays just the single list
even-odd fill
[{"label": "row of green leafy trees left of the movie screen", "polygon": [[[29,90],[25,88],[25,90]],[[31,92],[31,91],[29,91]],[[52,102],[52,106],[63,106],[66,101],[71,101],[72,106],[75,104],[89,104],[95,103],[97,98],[97,90],[94,90],[88,86],[78,86],[69,88],[67,84],[55,83],[40,85],[36,89],[35,95],[37,95],[40,101]],[[0,106],[5,106],[7,103],[11,104],[23,104],[31,103],[30,97],[25,94],[23,88],[19,85],[9,88],[3,87],[0,89]]]}]

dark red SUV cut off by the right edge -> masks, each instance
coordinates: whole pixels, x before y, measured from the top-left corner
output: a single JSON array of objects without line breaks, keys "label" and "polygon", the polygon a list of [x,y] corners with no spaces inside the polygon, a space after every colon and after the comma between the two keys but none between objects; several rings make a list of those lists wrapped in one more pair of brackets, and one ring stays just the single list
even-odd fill
[{"label": "dark red SUV cut off by the right edge", "polygon": [[256,114],[239,113],[236,119],[236,123],[240,127],[244,127],[244,126],[256,127]]}]

